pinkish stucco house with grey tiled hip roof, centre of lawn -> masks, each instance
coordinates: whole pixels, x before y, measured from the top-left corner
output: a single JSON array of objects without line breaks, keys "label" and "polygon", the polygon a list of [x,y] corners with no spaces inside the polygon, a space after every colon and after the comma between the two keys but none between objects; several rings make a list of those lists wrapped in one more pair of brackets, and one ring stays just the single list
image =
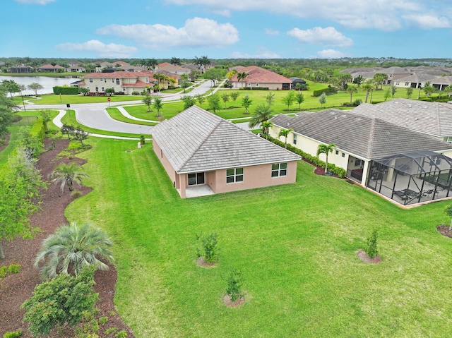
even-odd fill
[{"label": "pinkish stucco house with grey tiled hip roof, centre of lawn", "polygon": [[152,133],[155,155],[181,198],[297,179],[301,157],[196,106],[154,126]]}]

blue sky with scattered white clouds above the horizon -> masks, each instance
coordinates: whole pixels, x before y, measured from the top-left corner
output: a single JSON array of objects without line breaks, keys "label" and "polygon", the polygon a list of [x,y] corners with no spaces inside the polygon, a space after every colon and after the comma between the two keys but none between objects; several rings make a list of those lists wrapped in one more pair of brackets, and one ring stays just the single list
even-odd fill
[{"label": "blue sky with scattered white clouds above the horizon", "polygon": [[1,0],[0,56],[452,57],[450,0]]}]

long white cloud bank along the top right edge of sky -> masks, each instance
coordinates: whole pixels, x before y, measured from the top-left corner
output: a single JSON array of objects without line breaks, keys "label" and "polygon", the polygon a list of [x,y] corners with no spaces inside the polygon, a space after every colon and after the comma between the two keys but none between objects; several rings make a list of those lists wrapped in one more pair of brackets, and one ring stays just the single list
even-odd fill
[{"label": "long white cloud bank along the top right edge of sky", "polygon": [[[444,0],[163,0],[179,6],[201,5],[207,11],[224,13],[232,11],[262,11],[309,20],[333,20],[348,28],[376,28],[379,30],[398,30],[410,26],[410,16],[424,16],[429,13],[437,24],[444,28],[446,20],[451,20],[451,4]],[[422,25],[422,28],[429,28]],[[449,27],[449,26],[447,26]]]}]

